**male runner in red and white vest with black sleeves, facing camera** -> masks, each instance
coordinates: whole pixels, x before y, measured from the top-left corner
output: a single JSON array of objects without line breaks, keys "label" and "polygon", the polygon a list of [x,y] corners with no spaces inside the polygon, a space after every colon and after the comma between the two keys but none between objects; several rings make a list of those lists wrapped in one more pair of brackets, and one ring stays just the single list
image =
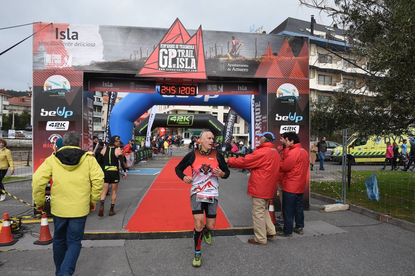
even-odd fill
[{"label": "male runner in red and white vest with black sleeves, facing camera", "polygon": [[[212,236],[209,231],[213,230],[216,221],[217,199],[219,196],[217,178],[226,179],[230,174],[225,158],[213,149],[213,139],[213,133],[210,130],[204,130],[200,134],[199,149],[186,154],[176,166],[176,175],[184,182],[192,184],[190,204],[195,220],[195,228],[193,229],[195,257],[192,262],[194,267],[201,266],[200,244],[203,237],[208,245],[212,243]],[[192,176],[183,173],[188,166],[192,167]],[[203,211],[206,215],[205,227],[203,227]]]}]

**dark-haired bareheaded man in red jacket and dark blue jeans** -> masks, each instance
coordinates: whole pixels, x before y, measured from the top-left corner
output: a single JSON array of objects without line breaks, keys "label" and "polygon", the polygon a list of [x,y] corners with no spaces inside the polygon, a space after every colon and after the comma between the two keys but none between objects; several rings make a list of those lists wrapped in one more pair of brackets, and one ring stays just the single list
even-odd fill
[{"label": "dark-haired bareheaded man in red jacket and dark blue jeans", "polygon": [[[283,231],[277,232],[278,236],[292,237],[293,231],[303,235],[304,211],[303,193],[307,182],[309,157],[308,151],[303,149],[300,139],[295,132],[283,134],[288,151],[281,160],[280,172],[282,175],[283,190]],[[295,218],[295,228],[293,221]]]}]

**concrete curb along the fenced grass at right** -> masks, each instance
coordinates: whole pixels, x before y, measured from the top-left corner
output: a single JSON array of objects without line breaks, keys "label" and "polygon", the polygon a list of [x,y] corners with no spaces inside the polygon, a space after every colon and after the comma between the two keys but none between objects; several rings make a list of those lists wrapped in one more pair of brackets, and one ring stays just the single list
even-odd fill
[{"label": "concrete curb along the fenced grass at right", "polygon": [[[319,199],[319,200],[322,200],[322,201],[325,201],[325,202],[328,202],[328,203],[334,203],[335,202],[335,199],[332,199],[331,197],[326,197],[324,195],[316,194],[316,193],[313,193],[313,192],[310,192],[310,197],[315,198],[315,199]],[[412,223],[412,222],[409,222],[409,221],[404,221],[403,219],[400,219],[400,218],[390,217],[389,219],[387,219],[388,215],[384,215],[382,213],[364,208],[362,206],[350,204],[350,203],[349,203],[349,210],[354,211],[354,212],[359,213],[359,214],[362,214],[362,215],[365,215],[365,216],[369,216],[371,218],[376,218],[377,220],[379,218],[382,218],[382,221],[386,220],[385,221],[386,223],[392,224],[394,226],[398,226],[398,227],[400,227],[402,229],[405,229],[405,230],[415,232],[415,223]]]}]

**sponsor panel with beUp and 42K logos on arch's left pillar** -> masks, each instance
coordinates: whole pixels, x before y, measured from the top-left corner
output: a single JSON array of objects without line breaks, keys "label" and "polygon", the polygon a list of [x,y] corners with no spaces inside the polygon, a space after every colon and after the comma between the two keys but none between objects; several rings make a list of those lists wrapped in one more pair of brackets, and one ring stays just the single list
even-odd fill
[{"label": "sponsor panel with beUp and 42K logos on arch's left pillar", "polygon": [[[68,131],[83,133],[81,71],[33,72],[33,170]],[[47,128],[47,130],[46,130]]]}]

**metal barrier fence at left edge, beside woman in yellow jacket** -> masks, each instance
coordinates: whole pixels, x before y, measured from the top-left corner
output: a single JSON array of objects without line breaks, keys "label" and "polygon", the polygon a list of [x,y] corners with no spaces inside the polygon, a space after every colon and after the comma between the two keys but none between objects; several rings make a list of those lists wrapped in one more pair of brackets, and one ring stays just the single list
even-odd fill
[{"label": "metal barrier fence at left edge, beside woman in yellow jacket", "polygon": [[[32,202],[32,151],[12,151],[15,173],[10,175],[10,168],[3,178],[4,189],[25,202]],[[5,212],[10,216],[30,213],[32,209],[21,202],[5,196],[0,202],[0,214]]]}]

